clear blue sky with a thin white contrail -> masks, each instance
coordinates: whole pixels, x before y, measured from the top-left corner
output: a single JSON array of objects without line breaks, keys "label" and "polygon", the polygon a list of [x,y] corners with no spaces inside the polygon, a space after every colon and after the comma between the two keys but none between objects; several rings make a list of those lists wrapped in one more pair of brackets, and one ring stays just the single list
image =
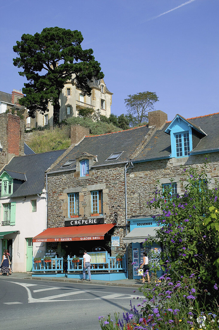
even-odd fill
[{"label": "clear blue sky with a thin white contrail", "polygon": [[218,0],[8,0],[0,12],[1,91],[25,82],[12,60],[21,35],[59,26],[81,31],[82,47],[94,50],[112,113],[126,113],[124,98],[147,90],[168,120],[219,112]]}]

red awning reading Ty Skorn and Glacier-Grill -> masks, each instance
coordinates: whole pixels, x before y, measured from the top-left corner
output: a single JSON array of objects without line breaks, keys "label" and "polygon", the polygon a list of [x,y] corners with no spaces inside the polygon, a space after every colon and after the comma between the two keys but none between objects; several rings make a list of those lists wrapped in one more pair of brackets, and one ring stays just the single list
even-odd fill
[{"label": "red awning reading Ty Skorn and Glacier-Grill", "polygon": [[48,228],[33,238],[33,242],[71,242],[103,240],[114,223]]}]

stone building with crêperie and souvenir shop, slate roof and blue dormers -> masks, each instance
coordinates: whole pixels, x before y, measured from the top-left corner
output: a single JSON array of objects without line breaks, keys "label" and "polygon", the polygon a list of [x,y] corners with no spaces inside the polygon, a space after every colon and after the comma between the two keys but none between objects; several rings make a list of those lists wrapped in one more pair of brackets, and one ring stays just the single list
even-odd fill
[{"label": "stone building with cr\u00eaperie and souvenir shop, slate roof and blue dormers", "polygon": [[128,276],[136,278],[131,262],[141,262],[142,242],[155,236],[155,210],[146,205],[157,181],[180,194],[183,169],[201,171],[205,154],[211,186],[218,180],[218,119],[219,113],[189,119],[176,115],[168,122],[165,113],[153,111],[148,125],[99,136],[73,125],[72,145],[46,172],[48,237],[44,231],[35,239],[43,237],[50,248],[81,255],[83,249],[108,250],[111,236],[119,236],[120,246],[112,247],[112,254],[127,249]]}]

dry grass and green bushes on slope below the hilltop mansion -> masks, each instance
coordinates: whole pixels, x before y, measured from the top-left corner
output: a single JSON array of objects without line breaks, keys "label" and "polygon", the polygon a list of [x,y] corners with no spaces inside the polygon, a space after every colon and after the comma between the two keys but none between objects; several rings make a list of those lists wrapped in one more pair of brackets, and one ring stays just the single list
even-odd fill
[{"label": "dry grass and green bushes on slope below the hilltop mansion", "polygon": [[71,144],[70,125],[72,124],[88,127],[91,135],[121,130],[121,128],[112,123],[101,121],[94,122],[91,118],[72,117],[68,118],[66,123],[61,126],[46,127],[43,131],[33,130],[26,144],[36,153],[66,149]]}]

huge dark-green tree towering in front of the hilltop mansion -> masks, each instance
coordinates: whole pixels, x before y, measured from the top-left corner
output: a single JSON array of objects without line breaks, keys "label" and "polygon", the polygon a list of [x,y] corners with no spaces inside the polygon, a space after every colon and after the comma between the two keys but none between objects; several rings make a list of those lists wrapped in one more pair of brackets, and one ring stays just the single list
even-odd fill
[{"label": "huge dark-green tree towering in front of the hilltop mansion", "polygon": [[59,94],[67,80],[76,82],[82,94],[91,95],[88,80],[104,77],[100,63],[92,49],[82,49],[83,37],[80,31],[60,27],[44,28],[41,33],[23,34],[21,41],[13,47],[19,57],[14,65],[22,68],[25,76],[22,92],[26,94],[20,103],[34,116],[36,110],[44,114],[48,101],[53,106],[53,123],[59,122]]}]

